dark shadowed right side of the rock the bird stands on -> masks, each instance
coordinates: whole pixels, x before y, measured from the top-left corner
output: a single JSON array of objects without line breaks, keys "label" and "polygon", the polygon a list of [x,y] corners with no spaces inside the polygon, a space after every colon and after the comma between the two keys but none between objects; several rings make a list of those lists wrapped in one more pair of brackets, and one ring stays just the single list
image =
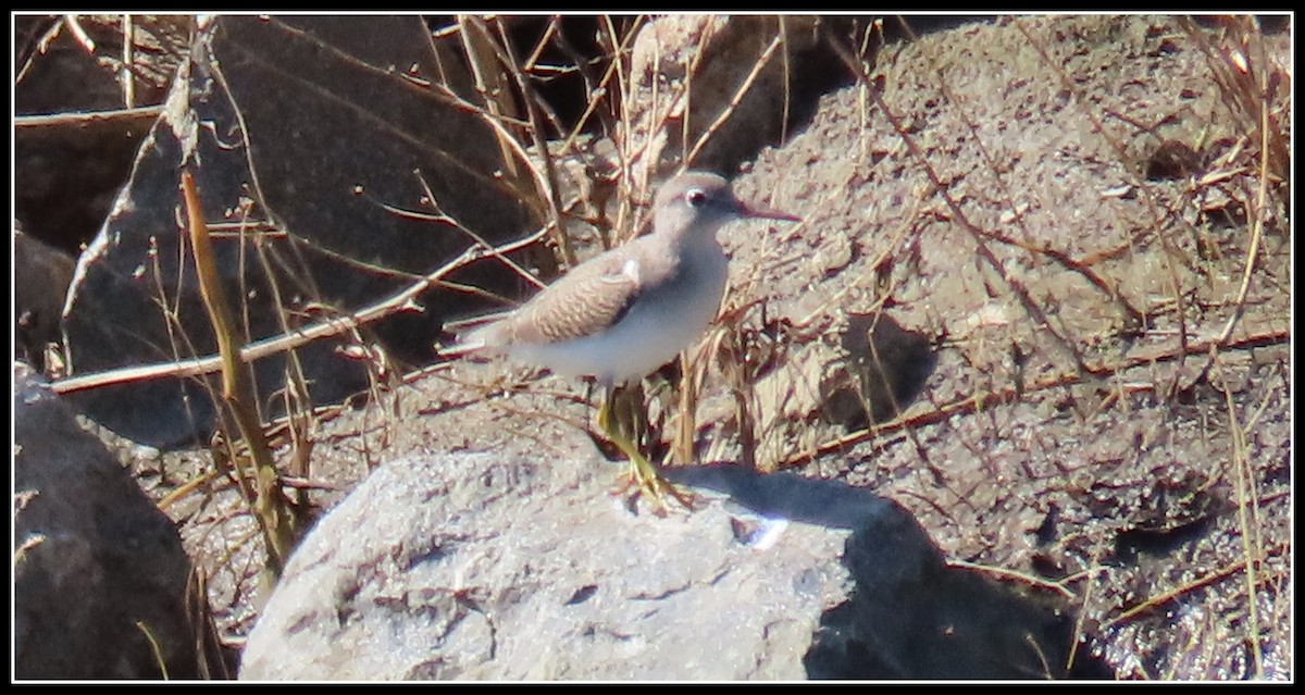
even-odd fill
[{"label": "dark shadowed right side of the rock the bird stands on", "polygon": [[804,658],[810,678],[1104,678],[1078,656],[1074,621],[977,572],[950,568],[895,502],[835,481],[757,474],[733,465],[675,468],[677,483],[714,490],[767,517],[851,529],[850,598],[825,613]]}]

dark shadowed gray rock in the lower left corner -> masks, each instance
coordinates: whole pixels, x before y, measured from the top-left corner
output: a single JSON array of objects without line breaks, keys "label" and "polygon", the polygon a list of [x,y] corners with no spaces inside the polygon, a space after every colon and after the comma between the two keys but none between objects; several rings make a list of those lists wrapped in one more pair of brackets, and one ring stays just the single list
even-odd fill
[{"label": "dark shadowed gray rock in the lower left corner", "polygon": [[14,675],[194,677],[172,521],[23,364],[13,410]]}]

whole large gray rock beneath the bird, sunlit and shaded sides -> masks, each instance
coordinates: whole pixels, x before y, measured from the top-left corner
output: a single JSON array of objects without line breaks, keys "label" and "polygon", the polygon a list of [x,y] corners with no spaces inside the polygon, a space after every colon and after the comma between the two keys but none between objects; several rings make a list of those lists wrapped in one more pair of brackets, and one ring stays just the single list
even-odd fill
[{"label": "whole large gray rock beneath the bird, sunlit and shaded sides", "polygon": [[1032,643],[1064,664],[1058,621],[946,570],[893,502],[736,466],[676,473],[763,513],[715,493],[632,513],[611,496],[624,473],[583,457],[392,461],[291,558],[240,677],[1040,675]]}]

